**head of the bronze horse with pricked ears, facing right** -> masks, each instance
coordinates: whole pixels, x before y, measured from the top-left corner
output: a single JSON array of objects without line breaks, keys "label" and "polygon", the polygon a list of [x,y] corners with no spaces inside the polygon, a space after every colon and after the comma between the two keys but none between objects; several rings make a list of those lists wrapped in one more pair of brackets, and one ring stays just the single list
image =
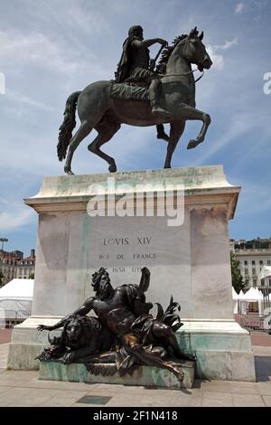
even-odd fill
[{"label": "head of the bronze horse with pricked ears, facing right", "polygon": [[206,52],[205,46],[202,42],[203,32],[199,35],[197,27],[195,27],[191,33],[183,39],[183,50],[182,54],[188,61],[198,65],[199,71],[209,70],[212,65],[210,56]]}]

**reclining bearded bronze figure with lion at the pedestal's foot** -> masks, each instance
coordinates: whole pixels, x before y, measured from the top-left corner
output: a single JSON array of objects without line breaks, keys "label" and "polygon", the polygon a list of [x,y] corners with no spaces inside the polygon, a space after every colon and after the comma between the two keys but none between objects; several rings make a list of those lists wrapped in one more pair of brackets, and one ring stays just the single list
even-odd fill
[{"label": "reclining bearded bronze figure with lion at the pedestal's foot", "polygon": [[[195,357],[182,352],[174,335],[182,326],[175,311],[180,306],[172,297],[165,311],[157,304],[157,316],[151,315],[154,306],[145,300],[149,283],[150,271],[144,268],[139,285],[113,288],[107,270],[99,269],[92,275],[94,297],[56,325],[38,326],[40,331],[63,327],[61,336],[49,336],[51,347],[38,358],[84,363],[89,371],[103,375],[132,373],[139,364],[156,366],[182,382],[182,362]],[[97,317],[86,316],[90,311]]]}]

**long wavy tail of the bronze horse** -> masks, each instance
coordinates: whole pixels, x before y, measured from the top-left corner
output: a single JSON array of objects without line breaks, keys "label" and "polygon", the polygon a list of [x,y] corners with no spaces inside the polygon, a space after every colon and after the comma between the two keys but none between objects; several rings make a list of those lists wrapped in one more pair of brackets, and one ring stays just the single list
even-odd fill
[{"label": "long wavy tail of the bronze horse", "polygon": [[64,119],[59,130],[59,143],[57,146],[60,161],[66,157],[67,149],[72,137],[72,130],[76,126],[75,111],[77,108],[79,94],[80,91],[74,91],[74,93],[71,93],[66,101]]}]

